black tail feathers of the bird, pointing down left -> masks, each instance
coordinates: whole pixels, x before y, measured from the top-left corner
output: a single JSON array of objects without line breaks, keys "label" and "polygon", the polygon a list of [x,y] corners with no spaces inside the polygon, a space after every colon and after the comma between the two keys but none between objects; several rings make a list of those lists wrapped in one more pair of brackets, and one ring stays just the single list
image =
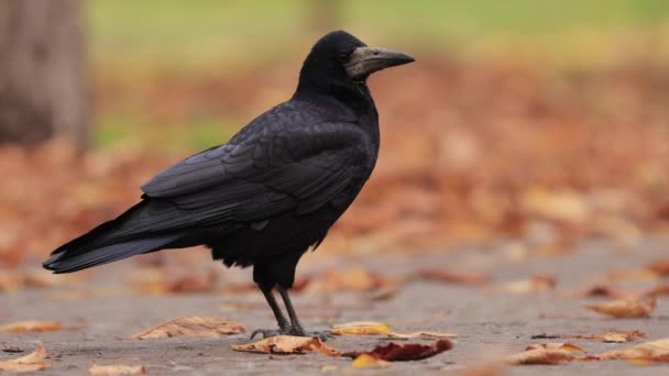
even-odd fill
[{"label": "black tail feathers of the bird, pointing down left", "polygon": [[144,209],[142,201],[119,218],[59,246],[42,266],[57,274],[77,272],[168,247],[182,237],[182,233],[136,233],[128,229],[133,223],[132,217]]}]

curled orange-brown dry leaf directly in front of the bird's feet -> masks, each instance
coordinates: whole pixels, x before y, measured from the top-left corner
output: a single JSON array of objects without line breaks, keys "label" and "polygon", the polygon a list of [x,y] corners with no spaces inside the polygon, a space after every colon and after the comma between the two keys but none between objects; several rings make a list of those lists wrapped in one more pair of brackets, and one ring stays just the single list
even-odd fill
[{"label": "curled orange-brown dry leaf directly in front of the bird's feet", "polygon": [[275,335],[257,342],[230,345],[234,351],[265,354],[303,354],[306,352],[318,352],[329,356],[340,356],[341,353],[326,345],[318,338]]}]

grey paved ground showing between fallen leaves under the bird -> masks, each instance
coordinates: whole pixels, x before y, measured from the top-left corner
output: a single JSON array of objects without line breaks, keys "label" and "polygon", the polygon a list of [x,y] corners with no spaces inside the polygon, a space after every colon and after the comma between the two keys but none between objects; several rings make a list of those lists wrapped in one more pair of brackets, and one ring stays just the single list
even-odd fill
[{"label": "grey paved ground showing between fallen leaves under the bird", "polygon": [[[429,266],[449,270],[487,273],[494,281],[526,279],[531,275],[552,275],[557,288],[535,294],[511,294],[487,287],[458,284],[413,281],[399,286],[386,300],[373,301],[370,292],[297,294],[295,301],[304,323],[309,329],[328,328],[331,323],[375,320],[393,323],[399,332],[430,330],[458,333],[451,351],[419,362],[394,363],[383,373],[464,372],[495,357],[520,352],[530,343],[574,343],[590,353],[623,349],[643,341],[669,338],[669,307],[659,305],[650,318],[611,319],[583,309],[593,298],[577,292],[612,270],[643,267],[662,256],[669,242],[648,240],[632,248],[606,242],[582,243],[575,251],[559,256],[530,256],[518,261],[513,252],[500,250],[463,250],[449,253],[408,254],[393,257],[337,261],[363,264],[391,277],[406,270]],[[513,247],[508,247],[512,250]],[[309,255],[307,255],[308,257]],[[307,274],[318,273],[322,265],[309,264]],[[350,266],[350,265],[348,265]],[[32,350],[43,343],[52,366],[43,374],[87,374],[92,364],[143,364],[151,374],[219,375],[235,374],[315,374],[323,366],[328,373],[350,374],[349,358],[332,358],[320,354],[264,355],[234,352],[231,344],[249,341],[248,334],[226,338],[172,338],[128,340],[160,322],[180,316],[227,317],[244,324],[248,331],[272,328],[274,321],[260,294],[202,294],[146,296],[128,288],[113,288],[132,262],[98,269],[94,280],[83,283],[85,296],[58,289],[22,291],[0,295],[0,322],[19,320],[57,320],[70,330],[44,333],[0,333],[6,347]],[[246,272],[221,270],[240,276]],[[628,281],[639,287],[646,281]],[[616,286],[625,286],[618,283]],[[644,285],[645,286],[645,285]],[[95,292],[91,292],[95,291]],[[84,294],[84,292],[83,292]],[[608,330],[646,333],[646,340],[616,344],[594,340],[533,340],[537,334],[595,334]],[[341,350],[372,349],[387,343],[384,336],[338,336],[328,343]],[[428,342],[428,340],[416,340]],[[0,353],[0,361],[15,357]],[[656,375],[666,365],[639,366],[624,361],[571,362],[556,366],[514,366],[508,375],[561,375],[588,372],[592,375]],[[360,371],[362,372],[362,371]],[[365,371],[376,373],[375,371]]]}]

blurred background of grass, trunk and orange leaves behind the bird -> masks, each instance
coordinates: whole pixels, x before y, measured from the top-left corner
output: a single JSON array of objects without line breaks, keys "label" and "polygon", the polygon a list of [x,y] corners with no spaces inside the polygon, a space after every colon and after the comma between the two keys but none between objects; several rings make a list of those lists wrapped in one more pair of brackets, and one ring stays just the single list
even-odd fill
[{"label": "blurred background of grass, trunk and orange leaves behind the bird", "polygon": [[669,233],[665,0],[0,0],[0,270],[289,98],[337,29],[417,62],[370,79],[377,169],[317,257]]}]

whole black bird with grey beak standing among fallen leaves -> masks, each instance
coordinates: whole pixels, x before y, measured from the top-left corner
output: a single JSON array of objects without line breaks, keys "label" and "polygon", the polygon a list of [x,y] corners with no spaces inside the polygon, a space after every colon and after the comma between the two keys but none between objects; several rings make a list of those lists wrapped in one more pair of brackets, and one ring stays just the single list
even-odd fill
[{"label": "whole black bird with grey beak standing among fallen leaves", "polygon": [[256,330],[252,338],[326,336],[303,329],[287,290],[301,255],[322,242],[374,169],[379,113],[368,77],[410,62],[410,56],[368,47],[343,31],[325,35],[305,59],[288,101],[253,120],[227,144],[156,175],[142,186],[142,201],[56,248],[43,266],[70,273],[204,244],[228,267],[253,266],[253,280],[278,330]]}]

